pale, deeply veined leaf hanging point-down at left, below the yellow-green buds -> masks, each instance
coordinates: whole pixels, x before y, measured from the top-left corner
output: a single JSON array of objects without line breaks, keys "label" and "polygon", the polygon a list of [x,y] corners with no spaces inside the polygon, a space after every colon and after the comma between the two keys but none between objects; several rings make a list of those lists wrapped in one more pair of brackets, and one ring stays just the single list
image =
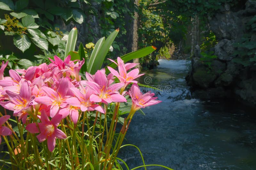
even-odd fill
[{"label": "pale, deeply veined leaf hanging point-down at left, below the yellow-green buds", "polygon": [[30,40],[25,34],[16,35],[13,38],[14,45],[19,48],[23,53],[26,51],[31,45]]}]

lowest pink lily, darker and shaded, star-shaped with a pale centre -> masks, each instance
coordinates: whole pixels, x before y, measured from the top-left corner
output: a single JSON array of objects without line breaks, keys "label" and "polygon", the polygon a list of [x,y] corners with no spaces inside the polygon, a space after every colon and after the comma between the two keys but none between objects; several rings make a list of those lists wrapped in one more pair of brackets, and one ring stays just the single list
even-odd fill
[{"label": "lowest pink lily, darker and shaded, star-shaped with a pale centre", "polygon": [[39,142],[43,142],[47,139],[48,149],[52,152],[56,144],[56,138],[67,138],[66,134],[57,128],[61,119],[61,115],[56,115],[50,121],[46,114],[41,114],[40,120],[42,123],[37,123],[40,131],[38,130],[36,123],[28,124],[26,130],[30,133],[40,133],[36,138]]}]

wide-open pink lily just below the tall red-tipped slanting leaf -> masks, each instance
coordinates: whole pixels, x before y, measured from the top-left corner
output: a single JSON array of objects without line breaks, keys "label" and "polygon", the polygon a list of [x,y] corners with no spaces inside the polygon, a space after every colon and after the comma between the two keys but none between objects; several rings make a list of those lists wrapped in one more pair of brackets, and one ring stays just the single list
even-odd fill
[{"label": "wide-open pink lily just below the tall red-tipped slanting leaf", "polygon": [[[87,77],[86,77],[87,78]],[[87,81],[87,86],[96,91],[96,94],[90,96],[93,102],[112,103],[126,102],[126,98],[119,94],[118,90],[124,87],[124,83],[115,83],[108,85],[106,74],[98,70],[94,75],[94,82]]]}]

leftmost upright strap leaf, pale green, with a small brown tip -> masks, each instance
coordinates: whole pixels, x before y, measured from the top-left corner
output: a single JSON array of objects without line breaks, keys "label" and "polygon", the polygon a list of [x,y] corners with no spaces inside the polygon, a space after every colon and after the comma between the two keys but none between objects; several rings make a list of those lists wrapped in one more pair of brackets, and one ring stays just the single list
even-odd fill
[{"label": "leftmost upright strap leaf, pale green, with a small brown tip", "polygon": [[70,51],[75,51],[76,39],[77,39],[77,29],[76,29],[76,27],[74,27],[68,34],[68,41],[67,41],[67,45],[66,45],[64,58],[66,58],[68,56],[68,53]]}]

